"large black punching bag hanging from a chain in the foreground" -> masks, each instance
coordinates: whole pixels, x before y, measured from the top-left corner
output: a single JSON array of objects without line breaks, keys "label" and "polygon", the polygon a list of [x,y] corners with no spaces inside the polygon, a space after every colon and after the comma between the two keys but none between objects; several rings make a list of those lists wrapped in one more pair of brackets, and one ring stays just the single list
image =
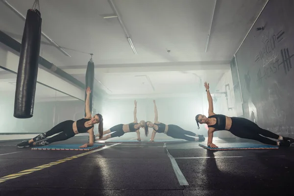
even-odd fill
[{"label": "large black punching bag hanging from a chain in the foreground", "polygon": [[13,115],[15,118],[27,119],[33,116],[41,44],[41,24],[41,13],[37,9],[27,10],[16,79]]}]

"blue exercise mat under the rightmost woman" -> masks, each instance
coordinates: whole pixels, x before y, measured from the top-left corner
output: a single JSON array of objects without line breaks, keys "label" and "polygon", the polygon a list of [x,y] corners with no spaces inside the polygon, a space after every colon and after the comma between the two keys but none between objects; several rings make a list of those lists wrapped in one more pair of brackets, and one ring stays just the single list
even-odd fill
[{"label": "blue exercise mat under the rightmost woman", "polygon": [[232,150],[232,149],[278,149],[277,146],[264,145],[264,144],[251,144],[251,143],[221,143],[216,144],[217,148],[207,147],[206,145],[199,144],[200,147],[204,147],[210,150]]}]

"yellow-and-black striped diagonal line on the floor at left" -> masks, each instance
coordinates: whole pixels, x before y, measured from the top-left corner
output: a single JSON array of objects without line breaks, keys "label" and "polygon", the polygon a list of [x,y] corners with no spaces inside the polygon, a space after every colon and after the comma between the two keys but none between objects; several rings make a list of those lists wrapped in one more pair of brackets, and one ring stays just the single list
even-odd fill
[{"label": "yellow-and-black striped diagonal line on the floor at left", "polygon": [[81,153],[81,154],[78,154],[78,155],[74,155],[74,156],[71,156],[71,157],[68,157],[68,158],[64,158],[64,159],[61,159],[61,160],[58,160],[58,161],[48,163],[48,164],[45,164],[45,165],[41,165],[41,166],[38,166],[38,167],[35,167],[35,168],[32,168],[32,169],[24,170],[24,171],[17,172],[17,173],[12,173],[12,174],[0,177],[0,183],[5,182],[5,181],[10,180],[10,179],[21,177],[23,175],[26,175],[26,174],[29,174],[29,173],[32,173],[32,172],[37,172],[37,171],[49,168],[49,167],[51,167],[53,165],[58,165],[60,163],[64,163],[66,161],[70,161],[70,160],[73,160],[75,158],[85,156],[87,154],[91,154],[91,153],[94,153],[94,152],[97,152],[97,151],[100,151],[100,150],[103,150],[103,149],[106,149],[106,148],[109,148],[109,147],[113,147],[113,146],[116,146],[116,145],[119,145],[119,144],[121,144],[121,143],[114,144],[114,145],[107,146],[107,147],[101,147],[101,148],[98,148],[96,150],[84,152],[84,153]]}]

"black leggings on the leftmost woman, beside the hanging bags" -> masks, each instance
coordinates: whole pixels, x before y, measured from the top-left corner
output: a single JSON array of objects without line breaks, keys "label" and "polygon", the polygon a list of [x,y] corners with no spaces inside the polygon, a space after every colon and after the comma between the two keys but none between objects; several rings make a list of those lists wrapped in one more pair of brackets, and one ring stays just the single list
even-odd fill
[{"label": "black leggings on the leftmost woman, beside the hanging bags", "polygon": [[74,121],[71,121],[71,120],[59,123],[53,128],[51,128],[49,131],[41,133],[40,135],[34,137],[33,141],[38,142],[39,140],[44,140],[45,138],[51,135],[54,135],[56,133],[59,133],[59,134],[47,139],[45,141],[45,145],[72,138],[75,135],[75,133],[73,132],[73,123]]}]

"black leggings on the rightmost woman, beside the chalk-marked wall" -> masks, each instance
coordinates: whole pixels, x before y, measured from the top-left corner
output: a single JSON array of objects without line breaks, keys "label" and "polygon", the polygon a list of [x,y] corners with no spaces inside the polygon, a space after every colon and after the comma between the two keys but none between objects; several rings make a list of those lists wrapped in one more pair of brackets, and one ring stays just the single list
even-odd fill
[{"label": "black leggings on the rightmost woman, beside the chalk-marked wall", "polygon": [[279,135],[260,128],[257,124],[247,119],[237,117],[232,117],[231,119],[232,126],[229,131],[235,136],[250,140],[257,140],[264,144],[277,146],[277,142],[270,140],[269,138],[277,140]]}]

